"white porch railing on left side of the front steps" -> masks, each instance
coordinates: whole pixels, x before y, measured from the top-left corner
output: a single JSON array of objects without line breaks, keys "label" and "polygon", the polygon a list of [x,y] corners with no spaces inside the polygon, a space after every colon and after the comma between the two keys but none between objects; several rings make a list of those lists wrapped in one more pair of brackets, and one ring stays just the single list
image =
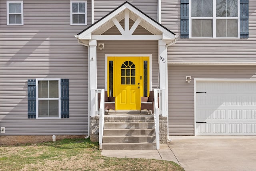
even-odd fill
[{"label": "white porch railing on left side of the front steps", "polygon": [[[100,104],[99,104],[99,93],[100,93]],[[104,107],[104,89],[93,89],[91,91],[92,100],[91,110],[93,113],[99,115],[99,148],[102,149],[102,139],[103,139],[103,129],[104,129],[104,117],[105,117],[105,107]],[[100,107],[99,107],[100,105]]]}]

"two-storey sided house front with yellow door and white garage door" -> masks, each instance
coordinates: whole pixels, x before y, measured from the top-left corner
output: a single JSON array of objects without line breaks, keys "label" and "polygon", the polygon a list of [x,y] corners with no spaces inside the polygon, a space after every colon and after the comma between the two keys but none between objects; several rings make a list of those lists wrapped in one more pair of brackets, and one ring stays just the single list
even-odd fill
[{"label": "two-storey sided house front with yellow door and white garage door", "polygon": [[95,89],[117,110],[164,90],[168,135],[256,135],[255,10],[252,0],[0,0],[0,144],[88,136]]}]

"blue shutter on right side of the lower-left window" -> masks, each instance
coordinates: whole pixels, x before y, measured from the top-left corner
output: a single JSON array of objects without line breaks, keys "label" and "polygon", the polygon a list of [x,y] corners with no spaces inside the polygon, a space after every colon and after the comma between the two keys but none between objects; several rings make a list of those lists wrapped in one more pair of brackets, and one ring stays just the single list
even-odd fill
[{"label": "blue shutter on right side of the lower-left window", "polygon": [[60,117],[69,118],[68,79],[60,80]]}]

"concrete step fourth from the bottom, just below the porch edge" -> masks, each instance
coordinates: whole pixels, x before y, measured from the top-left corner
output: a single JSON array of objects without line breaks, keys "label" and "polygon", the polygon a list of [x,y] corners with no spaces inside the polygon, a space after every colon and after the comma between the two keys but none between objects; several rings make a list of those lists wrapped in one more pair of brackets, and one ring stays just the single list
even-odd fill
[{"label": "concrete step fourth from the bottom, just below the porch edge", "polygon": [[154,122],[105,122],[104,129],[154,129]]}]

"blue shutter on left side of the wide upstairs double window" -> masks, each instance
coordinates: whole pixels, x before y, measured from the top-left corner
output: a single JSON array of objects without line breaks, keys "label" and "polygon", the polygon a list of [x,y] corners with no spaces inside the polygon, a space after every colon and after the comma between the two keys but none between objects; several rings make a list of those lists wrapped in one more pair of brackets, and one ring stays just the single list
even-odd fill
[{"label": "blue shutter on left side of the wide upstairs double window", "polygon": [[180,1],[180,38],[189,38],[189,0]]}]

